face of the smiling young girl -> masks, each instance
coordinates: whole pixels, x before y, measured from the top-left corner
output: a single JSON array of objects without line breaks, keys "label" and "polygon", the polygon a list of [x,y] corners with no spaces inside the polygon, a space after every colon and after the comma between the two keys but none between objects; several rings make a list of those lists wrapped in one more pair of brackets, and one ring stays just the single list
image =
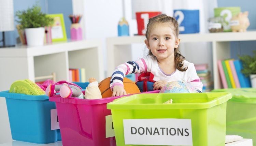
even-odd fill
[{"label": "face of the smiling young girl", "polygon": [[173,59],[174,48],[179,46],[180,39],[177,39],[173,29],[167,24],[157,24],[145,40],[147,48],[156,56],[158,61]]}]

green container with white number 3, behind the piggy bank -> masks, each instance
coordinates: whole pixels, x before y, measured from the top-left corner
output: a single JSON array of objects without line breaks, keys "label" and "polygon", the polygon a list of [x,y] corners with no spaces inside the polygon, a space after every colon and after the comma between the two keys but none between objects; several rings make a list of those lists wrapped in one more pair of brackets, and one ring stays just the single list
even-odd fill
[{"label": "green container with white number 3, behind the piggy bank", "polygon": [[221,7],[214,8],[214,17],[223,17],[226,25],[223,27],[224,32],[231,32],[232,29],[230,27],[230,20],[233,16],[239,14],[241,12],[241,8],[237,7]]}]

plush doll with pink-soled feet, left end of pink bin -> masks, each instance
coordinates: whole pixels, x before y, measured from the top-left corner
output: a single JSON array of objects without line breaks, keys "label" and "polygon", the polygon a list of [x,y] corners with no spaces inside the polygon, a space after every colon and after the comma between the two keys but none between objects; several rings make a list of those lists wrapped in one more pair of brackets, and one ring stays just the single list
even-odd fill
[{"label": "plush doll with pink-soled feet, left end of pink bin", "polygon": [[54,96],[56,94],[56,91],[59,91],[62,98],[75,97],[84,99],[84,94],[79,87],[74,85],[68,85],[66,83],[62,85],[48,85],[45,90],[45,94],[49,97]]}]

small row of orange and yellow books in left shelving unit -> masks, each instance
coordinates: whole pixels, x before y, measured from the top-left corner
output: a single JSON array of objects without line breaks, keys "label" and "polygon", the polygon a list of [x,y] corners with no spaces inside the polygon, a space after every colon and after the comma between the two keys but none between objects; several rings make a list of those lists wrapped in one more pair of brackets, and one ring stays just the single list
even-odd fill
[{"label": "small row of orange and yellow books in left shelving unit", "polygon": [[69,69],[69,81],[70,82],[86,82],[85,68]]}]

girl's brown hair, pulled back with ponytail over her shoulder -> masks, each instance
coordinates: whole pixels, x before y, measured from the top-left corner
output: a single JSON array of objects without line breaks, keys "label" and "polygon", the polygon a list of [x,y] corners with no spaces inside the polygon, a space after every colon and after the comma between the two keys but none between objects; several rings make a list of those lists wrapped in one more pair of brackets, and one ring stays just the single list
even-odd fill
[{"label": "girl's brown hair, pulled back with ponytail over her shoulder", "polygon": [[[167,23],[171,26],[173,29],[173,32],[175,34],[176,39],[179,36],[179,24],[177,20],[171,16],[167,16],[166,14],[160,14],[155,17],[152,17],[148,19],[148,24],[147,24],[147,31],[146,31],[146,38],[148,40],[149,34],[152,30],[152,28],[155,26],[155,24],[158,23]],[[178,53],[179,52],[179,53]],[[151,50],[149,50],[148,55],[153,55]],[[183,61],[185,60],[185,57],[180,54],[179,46],[177,48],[174,48],[174,61],[175,61],[175,66],[179,71],[186,71],[187,66],[184,67]]]}]

